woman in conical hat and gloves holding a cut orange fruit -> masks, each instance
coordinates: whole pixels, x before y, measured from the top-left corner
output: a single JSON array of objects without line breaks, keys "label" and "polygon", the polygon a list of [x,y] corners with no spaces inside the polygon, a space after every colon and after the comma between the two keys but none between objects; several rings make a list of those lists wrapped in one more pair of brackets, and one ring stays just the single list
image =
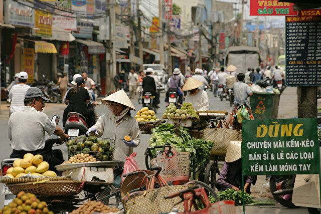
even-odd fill
[{"label": "woman in conical hat and gloves holding a cut orange fruit", "polygon": [[[101,102],[108,106],[109,112],[101,115],[86,134],[115,139],[114,159],[125,160],[140,142],[138,123],[130,116],[130,110],[136,109],[124,90],[105,97]],[[130,136],[131,140],[124,140],[124,136]]]}]

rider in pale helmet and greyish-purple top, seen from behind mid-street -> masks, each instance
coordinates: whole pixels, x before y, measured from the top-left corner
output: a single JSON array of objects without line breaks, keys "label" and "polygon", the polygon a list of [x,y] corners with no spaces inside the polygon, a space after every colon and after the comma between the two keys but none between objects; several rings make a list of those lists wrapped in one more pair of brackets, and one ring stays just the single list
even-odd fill
[{"label": "rider in pale helmet and greyish-purple top, seen from behind mid-street", "polygon": [[168,81],[169,90],[166,92],[166,98],[165,98],[166,106],[169,105],[169,96],[170,96],[171,91],[174,91],[177,93],[178,105],[182,105],[182,103],[183,103],[182,86],[183,86],[184,82],[183,82],[180,74],[181,74],[180,69],[175,68],[173,71],[172,77]]}]

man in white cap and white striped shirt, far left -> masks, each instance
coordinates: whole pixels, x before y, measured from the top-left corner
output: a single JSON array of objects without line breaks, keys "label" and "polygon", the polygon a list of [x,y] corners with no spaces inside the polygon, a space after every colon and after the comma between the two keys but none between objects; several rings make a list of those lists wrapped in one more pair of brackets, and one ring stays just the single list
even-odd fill
[{"label": "man in white cap and white striped shirt, far left", "polygon": [[24,71],[20,72],[18,76],[19,83],[14,85],[9,92],[9,99],[11,99],[10,115],[15,111],[21,110],[25,106],[25,94],[30,88],[29,85],[26,85],[27,80],[28,74]]}]

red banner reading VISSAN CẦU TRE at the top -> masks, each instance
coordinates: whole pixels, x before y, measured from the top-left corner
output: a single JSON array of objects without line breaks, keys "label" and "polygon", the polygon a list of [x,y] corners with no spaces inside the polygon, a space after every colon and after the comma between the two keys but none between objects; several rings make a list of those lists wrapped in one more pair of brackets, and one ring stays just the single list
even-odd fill
[{"label": "red banner reading VISSAN C\u1ea6U TRE at the top", "polygon": [[278,0],[250,0],[250,16],[297,16],[293,6]]}]

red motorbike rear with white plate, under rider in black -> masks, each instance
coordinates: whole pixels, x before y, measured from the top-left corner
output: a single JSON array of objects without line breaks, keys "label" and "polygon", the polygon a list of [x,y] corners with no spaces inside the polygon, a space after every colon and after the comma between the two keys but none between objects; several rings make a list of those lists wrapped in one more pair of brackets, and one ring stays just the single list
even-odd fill
[{"label": "red motorbike rear with white plate, under rider in black", "polygon": [[88,124],[86,122],[86,117],[77,113],[70,112],[67,115],[67,121],[65,124],[65,133],[71,137],[80,136],[88,131]]}]

